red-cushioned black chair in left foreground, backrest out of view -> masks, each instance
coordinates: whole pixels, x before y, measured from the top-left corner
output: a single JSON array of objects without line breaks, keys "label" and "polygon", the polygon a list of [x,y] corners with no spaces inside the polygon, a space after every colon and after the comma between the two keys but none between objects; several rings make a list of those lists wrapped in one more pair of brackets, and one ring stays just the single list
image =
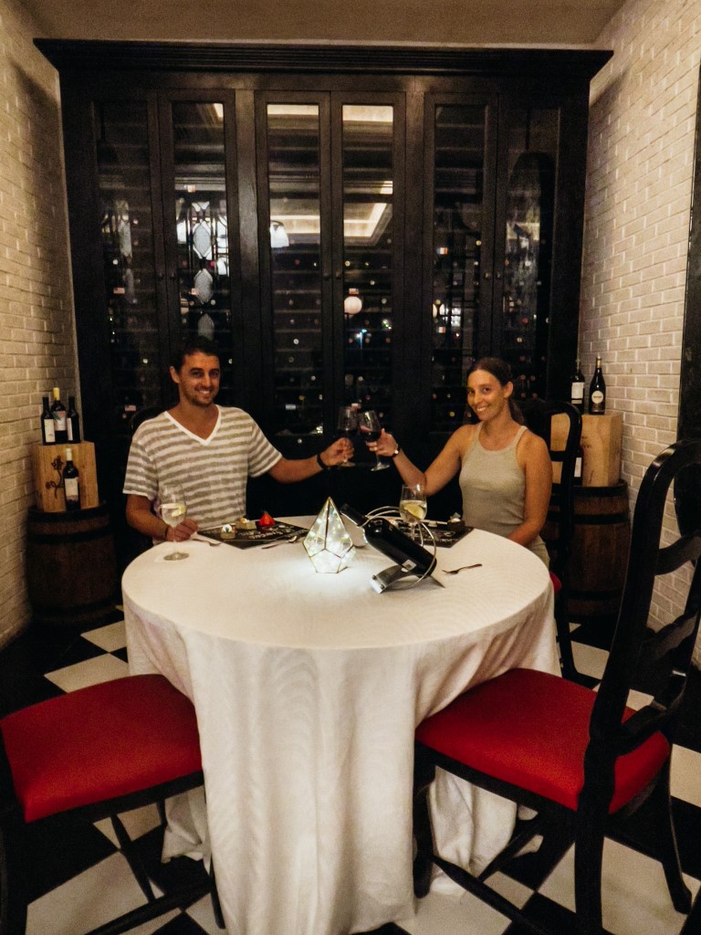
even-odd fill
[{"label": "red-cushioned black chair in left foreground, backrest out of view", "polygon": [[25,929],[28,827],[107,817],[148,901],[90,935],[118,935],[207,893],[223,928],[213,875],[156,897],[119,818],[203,782],[193,705],[162,675],[91,685],[13,712],[0,721],[0,739],[1,935]]}]

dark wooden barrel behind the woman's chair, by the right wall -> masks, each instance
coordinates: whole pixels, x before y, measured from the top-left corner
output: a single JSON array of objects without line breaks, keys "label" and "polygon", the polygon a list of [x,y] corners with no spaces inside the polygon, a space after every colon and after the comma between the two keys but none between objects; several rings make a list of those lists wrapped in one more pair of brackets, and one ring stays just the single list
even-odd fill
[{"label": "dark wooden barrel behind the woman's chair, by the right wall", "polygon": [[569,619],[614,621],[630,546],[628,485],[577,487],[569,564]]}]

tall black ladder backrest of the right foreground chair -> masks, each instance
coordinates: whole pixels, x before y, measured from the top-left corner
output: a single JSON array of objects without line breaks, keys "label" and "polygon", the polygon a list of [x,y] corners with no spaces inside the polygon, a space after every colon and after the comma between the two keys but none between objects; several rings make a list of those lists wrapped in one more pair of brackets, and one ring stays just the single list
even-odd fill
[{"label": "tall black ladder backrest of the right foreground chair", "polygon": [[[701,614],[701,526],[662,544],[670,485],[701,465],[701,439],[678,441],[658,454],[637,495],[621,610],[599,686],[585,758],[585,790],[606,795],[616,757],[661,731],[673,740]],[[648,627],[655,580],[691,562],[684,611],[671,623]],[[643,670],[654,699],[625,721],[624,706],[637,671]]]}]

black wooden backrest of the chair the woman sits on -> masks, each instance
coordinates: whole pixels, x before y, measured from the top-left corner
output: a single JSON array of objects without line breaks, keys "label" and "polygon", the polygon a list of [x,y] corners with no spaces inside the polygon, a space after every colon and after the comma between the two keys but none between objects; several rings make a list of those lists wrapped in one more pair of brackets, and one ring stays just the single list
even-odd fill
[{"label": "black wooden backrest of the chair the woman sits on", "polygon": [[548,445],[552,461],[552,496],[541,536],[551,556],[551,570],[565,581],[574,532],[575,464],[581,440],[581,415],[570,403],[528,399],[519,403],[525,424]]}]

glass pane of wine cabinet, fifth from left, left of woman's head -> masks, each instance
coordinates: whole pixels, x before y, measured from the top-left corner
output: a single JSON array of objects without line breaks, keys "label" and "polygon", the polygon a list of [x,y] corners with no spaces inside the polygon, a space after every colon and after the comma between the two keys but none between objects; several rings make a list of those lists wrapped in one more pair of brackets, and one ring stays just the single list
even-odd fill
[{"label": "glass pane of wine cabinet, fifth from left, left of woman's head", "polygon": [[[485,159],[488,108],[437,104],[433,116],[431,246],[431,428],[451,432],[465,419],[467,372],[486,348],[490,295]],[[488,279],[487,282],[490,280]],[[424,299],[425,301],[425,299]]]}]

